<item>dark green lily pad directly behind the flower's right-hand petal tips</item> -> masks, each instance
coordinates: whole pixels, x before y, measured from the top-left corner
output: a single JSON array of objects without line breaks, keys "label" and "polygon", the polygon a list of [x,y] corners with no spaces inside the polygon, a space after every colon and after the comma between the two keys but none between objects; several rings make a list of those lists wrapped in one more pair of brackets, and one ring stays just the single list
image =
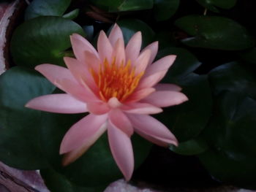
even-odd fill
[{"label": "dark green lily pad directly behind the flower's right-hand petal tips", "polygon": [[157,117],[170,128],[179,142],[197,137],[211,117],[211,90],[206,75],[190,74],[179,80],[189,101],[169,107]]}]

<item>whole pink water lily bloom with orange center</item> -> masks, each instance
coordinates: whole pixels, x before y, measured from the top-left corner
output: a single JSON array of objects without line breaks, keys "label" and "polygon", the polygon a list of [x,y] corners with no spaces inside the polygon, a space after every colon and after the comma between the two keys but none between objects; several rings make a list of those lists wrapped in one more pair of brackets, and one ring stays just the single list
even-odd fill
[{"label": "whole pink water lily bloom with orange center", "polygon": [[67,68],[41,64],[35,69],[66,93],[39,96],[26,104],[35,110],[58,113],[89,112],[65,134],[60,147],[67,165],[80,157],[108,130],[113,158],[126,180],[132,177],[134,157],[130,137],[137,132],[149,141],[178,145],[176,137],[151,114],[187,101],[181,88],[158,83],[176,59],[167,55],[154,61],[158,42],[140,51],[142,37],[135,33],[127,46],[118,25],[109,37],[100,31],[97,50],[79,34],[70,37],[75,58],[65,57]]}]

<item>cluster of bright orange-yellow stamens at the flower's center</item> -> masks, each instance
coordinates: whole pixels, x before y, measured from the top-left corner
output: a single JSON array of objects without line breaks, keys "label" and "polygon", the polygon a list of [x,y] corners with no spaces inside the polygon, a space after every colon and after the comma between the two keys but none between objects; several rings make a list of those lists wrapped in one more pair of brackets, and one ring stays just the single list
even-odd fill
[{"label": "cluster of bright orange-yellow stamens at the flower's center", "polygon": [[116,97],[118,101],[124,101],[137,88],[144,72],[135,74],[135,66],[132,67],[131,61],[117,65],[114,58],[111,64],[108,64],[108,60],[105,59],[99,66],[99,72],[91,69],[91,74],[103,101],[108,101],[112,97]]}]

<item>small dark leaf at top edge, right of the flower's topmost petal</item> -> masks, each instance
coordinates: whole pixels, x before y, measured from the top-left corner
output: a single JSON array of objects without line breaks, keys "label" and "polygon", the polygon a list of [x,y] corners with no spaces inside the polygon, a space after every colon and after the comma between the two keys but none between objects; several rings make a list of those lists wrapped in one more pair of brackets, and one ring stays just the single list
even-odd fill
[{"label": "small dark leaf at top edge, right of the flower's topmost petal", "polygon": [[167,20],[177,11],[179,0],[154,0],[154,18],[156,20]]}]

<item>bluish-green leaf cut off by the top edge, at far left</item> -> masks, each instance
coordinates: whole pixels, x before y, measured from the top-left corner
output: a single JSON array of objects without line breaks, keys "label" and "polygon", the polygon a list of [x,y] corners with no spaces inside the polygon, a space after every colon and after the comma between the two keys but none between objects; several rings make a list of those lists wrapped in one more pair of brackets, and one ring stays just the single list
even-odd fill
[{"label": "bluish-green leaf cut off by the top edge, at far left", "polygon": [[34,0],[26,9],[25,19],[39,16],[62,16],[71,0]]}]

